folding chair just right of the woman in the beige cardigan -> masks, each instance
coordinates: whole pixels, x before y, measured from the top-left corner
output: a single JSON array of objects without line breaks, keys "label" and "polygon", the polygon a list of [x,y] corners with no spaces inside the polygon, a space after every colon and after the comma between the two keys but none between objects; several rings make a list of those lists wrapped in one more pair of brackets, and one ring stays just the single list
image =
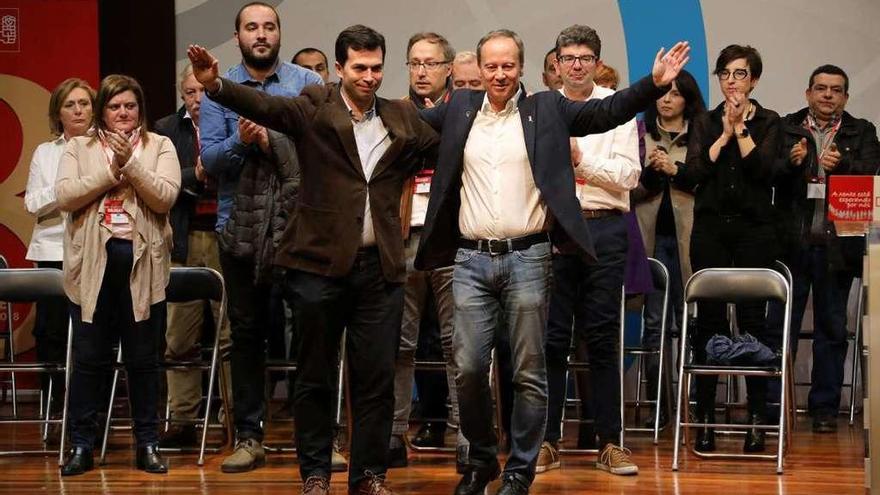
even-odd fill
[{"label": "folding chair just right of the woman in the beige cardigan", "polygon": [[[220,316],[214,322],[214,348],[211,350],[211,362],[205,364],[202,361],[160,361],[163,368],[172,369],[200,369],[209,370],[208,376],[208,392],[205,398],[205,414],[201,418],[189,420],[196,424],[202,425],[202,439],[199,445],[198,465],[205,463],[205,445],[208,438],[208,422],[211,416],[211,403],[214,397],[214,382],[217,373],[217,365],[220,356],[220,328],[223,325],[223,319],[226,318],[226,288],[223,276],[212,268],[206,267],[172,267],[171,279],[168,287],[165,288],[165,300],[169,303],[189,302],[189,301],[214,301],[220,303]],[[107,420],[104,424],[104,440],[101,445],[100,463],[103,464],[107,454],[107,441],[110,433],[110,423],[113,417],[113,402],[116,397],[116,388],[119,381],[119,372],[121,370],[122,346],[120,344],[116,358],[116,365],[113,371],[113,384],[110,388],[110,402],[107,408]],[[223,400],[223,409],[226,413],[226,431],[227,441],[232,438],[231,435],[231,415],[229,413],[229,398],[226,397],[225,380],[227,377],[220,374],[220,395]],[[169,421],[169,420],[166,420]],[[185,420],[174,420],[185,421]]]}]

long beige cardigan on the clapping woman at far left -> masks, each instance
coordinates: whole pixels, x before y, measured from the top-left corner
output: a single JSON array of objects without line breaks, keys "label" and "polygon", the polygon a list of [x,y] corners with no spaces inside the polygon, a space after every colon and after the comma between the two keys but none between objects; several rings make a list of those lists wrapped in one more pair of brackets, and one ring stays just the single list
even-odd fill
[{"label": "long beige cardigan on the clapping woman at far left", "polygon": [[[123,209],[133,221],[131,299],[135,321],[150,317],[150,305],[165,299],[170,277],[171,225],[168,211],[180,189],[180,165],[171,140],[149,133],[140,156],[122,168],[136,194]],[[111,233],[102,223],[104,197],[119,185],[110,172],[100,141],[76,137],[61,157],[55,194],[58,207],[70,212],[64,231],[64,291],[92,322],[107,265],[104,248]]]}]

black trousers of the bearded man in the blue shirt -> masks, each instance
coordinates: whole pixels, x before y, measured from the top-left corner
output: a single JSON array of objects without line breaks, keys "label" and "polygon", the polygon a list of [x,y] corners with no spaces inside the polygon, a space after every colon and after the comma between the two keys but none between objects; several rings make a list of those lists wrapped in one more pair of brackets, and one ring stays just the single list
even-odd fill
[{"label": "black trousers of the bearded man in the blue shirt", "polygon": [[220,251],[226,281],[227,308],[232,338],[231,371],[235,432],[238,440],[263,441],[266,416],[266,338],[273,326],[271,283],[257,284],[254,263]]}]

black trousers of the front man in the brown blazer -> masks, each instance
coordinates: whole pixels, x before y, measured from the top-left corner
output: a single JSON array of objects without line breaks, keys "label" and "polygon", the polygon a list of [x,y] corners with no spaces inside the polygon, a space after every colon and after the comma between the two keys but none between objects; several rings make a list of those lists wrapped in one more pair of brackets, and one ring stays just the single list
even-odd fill
[{"label": "black trousers of the front man in the brown blazer", "polygon": [[349,485],[388,466],[394,416],[394,364],[403,285],[385,280],[375,248],[358,252],[344,277],[290,270],[287,293],[297,315],[299,370],[294,396],[300,474],[330,476],[336,363],[346,330],[352,432]]}]

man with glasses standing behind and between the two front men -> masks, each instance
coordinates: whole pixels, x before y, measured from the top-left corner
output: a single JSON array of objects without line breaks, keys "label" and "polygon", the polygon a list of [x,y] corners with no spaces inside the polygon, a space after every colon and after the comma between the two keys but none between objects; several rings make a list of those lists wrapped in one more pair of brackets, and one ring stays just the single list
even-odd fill
[{"label": "man with glasses standing behind and between the two front men", "polygon": [[[448,99],[450,63],[454,57],[455,50],[449,41],[437,33],[416,33],[410,37],[406,62],[409,69],[407,98],[416,107],[425,108],[426,104],[439,104]],[[394,370],[394,425],[389,443],[389,467],[404,467],[408,464],[406,432],[409,429],[412,408],[413,375],[419,391],[421,415],[429,420],[422,424],[412,444],[416,447],[444,445],[447,396],[452,399],[451,419],[458,422],[455,365],[452,361],[452,267],[429,271],[413,268],[413,259],[425,223],[434,163],[424,161],[418,164],[417,169],[418,174],[404,183],[400,202],[407,279],[404,285],[400,347]],[[436,312],[426,315],[426,309],[436,309]],[[431,324],[424,326],[424,332],[419,332],[423,319]],[[421,359],[445,361],[446,378],[434,370],[414,373],[417,349]],[[459,438],[464,439],[461,435]],[[466,455],[466,448],[463,442],[459,444],[461,463]]]}]

